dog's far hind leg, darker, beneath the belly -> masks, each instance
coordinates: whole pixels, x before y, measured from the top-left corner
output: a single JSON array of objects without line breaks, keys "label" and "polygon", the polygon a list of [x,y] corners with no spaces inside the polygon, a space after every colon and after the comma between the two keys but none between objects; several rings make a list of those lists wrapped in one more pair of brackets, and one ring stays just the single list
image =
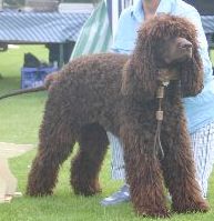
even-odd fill
[{"label": "dog's far hind leg, darker, beneath the belly", "polygon": [[93,195],[101,191],[99,172],[108,148],[106,132],[99,124],[88,124],[81,130],[79,144],[71,165],[71,185],[75,194]]}]

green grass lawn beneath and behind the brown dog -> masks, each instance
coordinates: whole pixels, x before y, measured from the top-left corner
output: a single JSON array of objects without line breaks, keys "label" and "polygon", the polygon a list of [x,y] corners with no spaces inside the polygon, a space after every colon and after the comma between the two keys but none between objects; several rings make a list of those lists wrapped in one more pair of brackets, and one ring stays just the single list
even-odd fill
[{"label": "green grass lawn beneath and behind the brown dog", "polygon": [[[41,46],[22,46],[0,53],[0,93],[20,87],[20,68],[23,53],[32,52],[38,58],[48,60],[48,51]],[[37,147],[38,130],[42,119],[45,92],[24,94],[0,101],[0,142],[32,143]],[[35,155],[35,150],[10,160],[13,174],[18,178],[18,190],[24,193],[28,165]],[[112,181],[110,177],[110,152],[105,158],[101,183],[103,192],[93,198],[77,197],[69,185],[70,160],[63,163],[59,182],[52,197],[13,199],[11,203],[0,204],[0,221],[136,221],[152,220],[137,218],[131,203],[103,208],[100,200],[118,190],[121,181]],[[172,221],[212,221],[214,220],[214,175],[210,180],[208,213],[173,214]],[[160,219],[162,220],[162,219]]]}]

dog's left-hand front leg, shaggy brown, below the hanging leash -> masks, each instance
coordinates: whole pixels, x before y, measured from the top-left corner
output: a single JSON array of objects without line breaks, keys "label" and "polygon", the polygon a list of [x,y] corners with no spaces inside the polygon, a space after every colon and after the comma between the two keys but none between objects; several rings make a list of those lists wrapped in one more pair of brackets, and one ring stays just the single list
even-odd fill
[{"label": "dog's left-hand front leg, shaggy brown, below the hanging leash", "polygon": [[131,200],[140,215],[169,217],[160,161],[150,145],[153,137],[147,140],[144,133],[130,124],[121,128]]}]

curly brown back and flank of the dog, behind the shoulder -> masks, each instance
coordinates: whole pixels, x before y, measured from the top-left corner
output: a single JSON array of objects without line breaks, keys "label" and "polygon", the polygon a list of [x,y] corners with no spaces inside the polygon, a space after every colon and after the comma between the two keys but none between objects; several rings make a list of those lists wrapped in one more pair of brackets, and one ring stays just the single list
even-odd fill
[{"label": "curly brown back and flank of the dog, behind the shoulder", "polygon": [[110,129],[118,118],[122,70],[128,59],[124,54],[101,53],[71,61],[60,71],[50,99],[60,99],[60,106],[67,103],[75,123],[98,122]]}]

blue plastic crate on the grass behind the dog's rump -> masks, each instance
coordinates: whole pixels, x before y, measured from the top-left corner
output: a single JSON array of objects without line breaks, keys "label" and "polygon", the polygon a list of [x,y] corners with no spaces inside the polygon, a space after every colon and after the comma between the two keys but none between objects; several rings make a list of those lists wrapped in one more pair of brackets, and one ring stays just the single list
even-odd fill
[{"label": "blue plastic crate on the grass behind the dog's rump", "polygon": [[35,88],[43,86],[47,74],[57,71],[54,67],[41,68],[22,68],[21,69],[21,88]]}]

